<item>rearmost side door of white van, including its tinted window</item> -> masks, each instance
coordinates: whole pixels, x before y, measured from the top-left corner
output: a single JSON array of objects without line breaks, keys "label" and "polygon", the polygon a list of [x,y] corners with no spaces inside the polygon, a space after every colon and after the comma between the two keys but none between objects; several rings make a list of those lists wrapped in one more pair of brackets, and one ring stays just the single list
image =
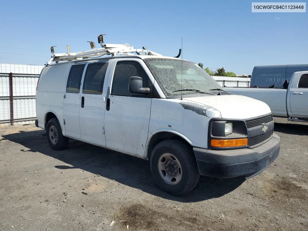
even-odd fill
[{"label": "rearmost side door of white van, including its tinted window", "polygon": [[85,63],[72,64],[64,95],[63,119],[65,136],[81,139],[79,127],[80,83]]}]

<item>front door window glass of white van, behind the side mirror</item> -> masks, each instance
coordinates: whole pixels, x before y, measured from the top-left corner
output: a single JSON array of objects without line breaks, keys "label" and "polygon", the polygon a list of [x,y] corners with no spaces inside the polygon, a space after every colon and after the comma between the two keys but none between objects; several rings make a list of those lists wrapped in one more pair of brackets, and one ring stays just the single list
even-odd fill
[{"label": "front door window glass of white van, behind the side mirror", "polygon": [[141,77],[143,87],[147,87],[148,75],[145,73],[140,63],[135,61],[119,61],[115,66],[111,93],[116,95],[138,95],[145,97],[143,94],[131,93],[128,91],[129,79],[132,76]]}]

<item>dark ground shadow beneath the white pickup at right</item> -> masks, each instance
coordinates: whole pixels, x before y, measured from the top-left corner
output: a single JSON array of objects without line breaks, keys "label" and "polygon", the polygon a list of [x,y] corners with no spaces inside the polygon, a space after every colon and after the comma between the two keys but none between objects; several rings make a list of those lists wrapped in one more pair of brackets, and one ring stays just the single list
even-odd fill
[{"label": "dark ground shadow beneath the white pickup at right", "polygon": [[274,125],[274,132],[282,132],[285,134],[307,136],[308,125],[306,124],[295,124],[295,123],[276,123]]}]

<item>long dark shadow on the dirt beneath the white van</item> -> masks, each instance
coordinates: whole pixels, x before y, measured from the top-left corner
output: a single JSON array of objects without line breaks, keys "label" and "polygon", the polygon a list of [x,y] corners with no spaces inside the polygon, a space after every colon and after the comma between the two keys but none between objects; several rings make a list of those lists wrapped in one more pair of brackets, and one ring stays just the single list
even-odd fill
[{"label": "long dark shadow on the dirt beneath the white van", "polygon": [[147,160],[72,139],[70,139],[67,149],[54,151],[48,146],[43,133],[45,133],[43,130],[20,131],[20,133],[3,135],[3,137],[28,148],[29,150],[22,149],[20,151],[28,152],[29,155],[31,152],[40,152],[71,165],[63,164],[55,166],[55,168],[61,170],[79,168],[172,201],[188,203],[221,197],[232,192],[245,181],[244,177],[215,179],[201,176],[197,187],[192,192],[175,197],[165,193],[156,185]]}]

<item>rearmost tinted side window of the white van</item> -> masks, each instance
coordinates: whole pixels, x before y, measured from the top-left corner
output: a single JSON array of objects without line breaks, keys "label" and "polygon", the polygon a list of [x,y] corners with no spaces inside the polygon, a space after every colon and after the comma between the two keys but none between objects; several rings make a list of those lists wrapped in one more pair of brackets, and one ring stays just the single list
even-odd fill
[{"label": "rearmost tinted side window of the white van", "polygon": [[81,77],[85,66],[86,64],[72,65],[66,84],[67,93],[79,93]]}]

